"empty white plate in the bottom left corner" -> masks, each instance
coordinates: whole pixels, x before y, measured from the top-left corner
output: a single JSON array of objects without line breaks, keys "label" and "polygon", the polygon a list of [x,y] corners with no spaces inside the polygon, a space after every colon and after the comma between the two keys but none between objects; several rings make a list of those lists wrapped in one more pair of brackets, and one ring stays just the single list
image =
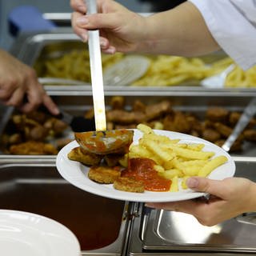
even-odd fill
[{"label": "empty white plate in the bottom left corner", "polygon": [[50,218],[18,210],[0,210],[0,255],[79,256],[74,234]]}]

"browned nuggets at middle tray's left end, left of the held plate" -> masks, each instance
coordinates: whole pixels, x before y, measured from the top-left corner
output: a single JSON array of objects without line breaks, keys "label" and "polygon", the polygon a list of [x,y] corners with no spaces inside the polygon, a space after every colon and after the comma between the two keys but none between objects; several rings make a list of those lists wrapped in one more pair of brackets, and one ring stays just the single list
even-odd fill
[{"label": "browned nuggets at middle tray's left end, left of the held plate", "polygon": [[1,135],[2,154],[55,155],[72,140],[66,123],[42,111],[15,112]]}]

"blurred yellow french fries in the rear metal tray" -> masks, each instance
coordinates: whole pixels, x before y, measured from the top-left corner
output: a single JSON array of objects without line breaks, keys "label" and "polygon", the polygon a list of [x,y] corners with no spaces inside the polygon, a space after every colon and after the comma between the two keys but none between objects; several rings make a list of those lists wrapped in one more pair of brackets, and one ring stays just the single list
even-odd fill
[{"label": "blurred yellow french fries in the rear metal tray", "polygon": [[[102,54],[103,72],[126,54]],[[145,55],[144,55],[145,56]],[[200,81],[215,74],[220,74],[226,67],[234,63],[231,58],[222,54],[222,58],[214,60],[214,56],[202,58],[184,58],[170,55],[146,55],[150,66],[146,73],[130,86],[199,86]],[[90,60],[87,50],[71,50],[58,58],[38,59],[34,63],[39,77],[69,78],[90,83]],[[127,70],[127,73],[129,71]],[[235,66],[226,78],[226,87],[256,87],[256,66],[250,70],[242,70]]]}]

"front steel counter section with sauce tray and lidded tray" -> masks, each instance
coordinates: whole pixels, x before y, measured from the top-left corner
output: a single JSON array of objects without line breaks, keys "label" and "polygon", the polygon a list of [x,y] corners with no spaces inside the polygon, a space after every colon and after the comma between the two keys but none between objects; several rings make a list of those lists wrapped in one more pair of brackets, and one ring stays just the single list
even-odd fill
[{"label": "front steel counter section with sauce tray and lidded tray", "polygon": [[[256,182],[256,158],[234,157],[236,177]],[[0,156],[0,208],[53,218],[74,232],[82,255],[255,255],[256,215],[216,226],[189,214],[150,210],[86,193],[66,182],[49,156]]]}]

